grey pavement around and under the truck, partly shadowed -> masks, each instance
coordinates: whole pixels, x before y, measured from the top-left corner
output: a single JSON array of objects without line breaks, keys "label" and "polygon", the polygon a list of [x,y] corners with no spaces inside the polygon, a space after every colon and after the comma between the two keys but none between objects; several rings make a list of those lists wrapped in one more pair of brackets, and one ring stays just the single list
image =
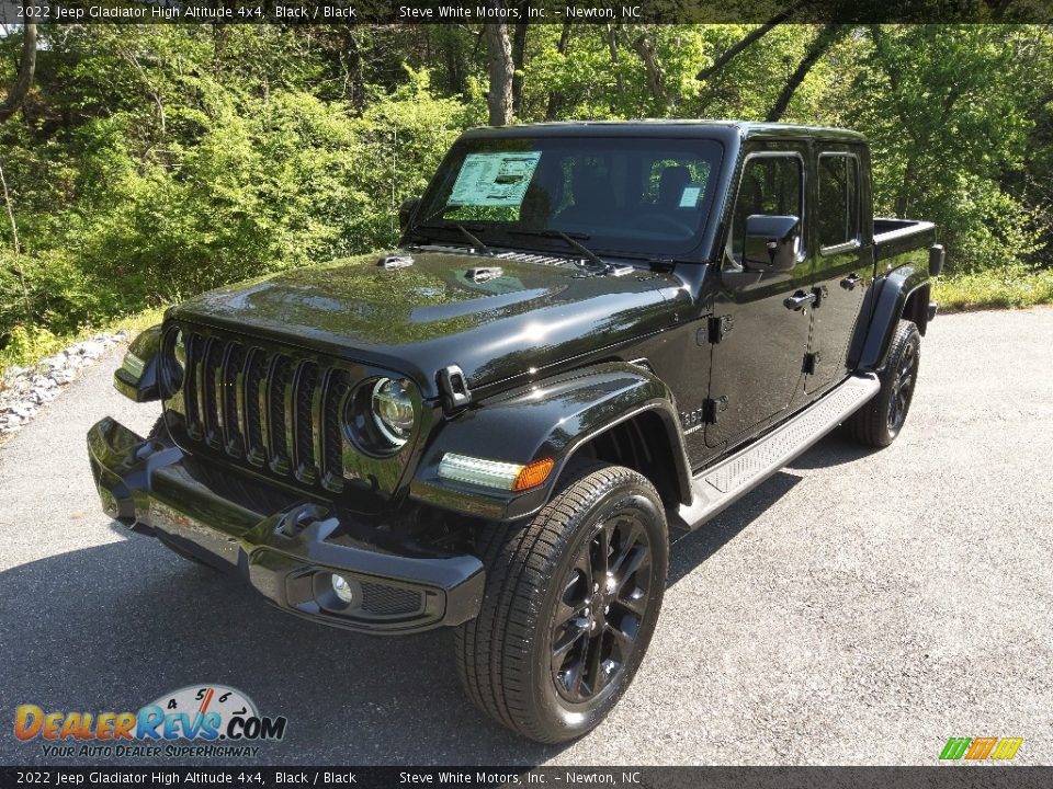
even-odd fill
[{"label": "grey pavement around and under the truck, partly shadowed", "polygon": [[301,621],[103,516],[86,431],[157,414],[117,362],[0,447],[0,763],[48,761],[18,705],[207,682],[288,718],[263,764],[935,764],[982,735],[1053,763],[1053,309],[941,316],[895,445],[828,437],[682,539],[633,687],[564,747],[477,713],[450,633]]}]

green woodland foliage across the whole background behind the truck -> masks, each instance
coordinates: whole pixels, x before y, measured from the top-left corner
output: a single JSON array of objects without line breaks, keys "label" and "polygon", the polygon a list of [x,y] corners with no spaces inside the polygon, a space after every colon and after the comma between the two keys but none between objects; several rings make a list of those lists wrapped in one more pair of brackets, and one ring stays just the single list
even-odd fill
[{"label": "green woodland foliage across the whole background behind the truck", "polygon": [[[695,78],[750,30],[531,25],[518,117],[762,119],[819,28],[779,26]],[[0,126],[21,241],[15,253],[3,206],[0,352],[25,358],[117,316],[390,247],[401,202],[485,123],[477,32],[46,26],[33,91]],[[0,37],[0,84],[20,45]],[[937,221],[952,273],[973,277],[954,293],[978,297],[1053,260],[1050,84],[1048,27],[858,26],[783,119],[868,134],[876,210]]]}]

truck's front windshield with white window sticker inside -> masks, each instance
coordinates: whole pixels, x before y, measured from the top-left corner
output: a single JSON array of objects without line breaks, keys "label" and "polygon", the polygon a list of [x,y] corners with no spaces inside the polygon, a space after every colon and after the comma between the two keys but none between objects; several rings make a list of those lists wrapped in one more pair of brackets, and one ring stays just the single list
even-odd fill
[{"label": "truck's front windshield with white window sticker inside", "polygon": [[462,139],[435,174],[414,225],[418,236],[457,225],[490,245],[559,245],[545,233],[587,240],[595,251],[684,254],[705,230],[722,148],[665,137]]}]

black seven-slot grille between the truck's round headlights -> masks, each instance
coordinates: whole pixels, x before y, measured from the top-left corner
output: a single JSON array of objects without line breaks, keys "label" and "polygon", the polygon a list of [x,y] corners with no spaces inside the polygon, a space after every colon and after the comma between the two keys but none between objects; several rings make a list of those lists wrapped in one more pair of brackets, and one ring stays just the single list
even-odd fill
[{"label": "black seven-slot grille between the truck's round headlights", "polygon": [[184,343],[192,441],[304,484],[343,489],[347,370],[193,331],[184,330]]}]

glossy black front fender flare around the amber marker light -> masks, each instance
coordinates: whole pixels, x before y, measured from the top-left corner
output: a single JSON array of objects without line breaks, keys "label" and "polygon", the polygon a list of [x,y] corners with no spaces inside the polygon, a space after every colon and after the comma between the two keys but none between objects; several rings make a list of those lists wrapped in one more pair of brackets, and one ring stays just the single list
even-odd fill
[{"label": "glossy black front fender flare around the amber marker light", "polygon": [[[672,392],[649,370],[618,362],[540,380],[462,411],[424,450],[409,495],[488,521],[533,515],[548,501],[576,449],[645,412],[659,418],[675,455],[676,489],[682,501],[690,501],[690,467]],[[446,453],[521,465],[552,458],[555,465],[537,488],[512,492],[441,478],[439,465]]]}]

